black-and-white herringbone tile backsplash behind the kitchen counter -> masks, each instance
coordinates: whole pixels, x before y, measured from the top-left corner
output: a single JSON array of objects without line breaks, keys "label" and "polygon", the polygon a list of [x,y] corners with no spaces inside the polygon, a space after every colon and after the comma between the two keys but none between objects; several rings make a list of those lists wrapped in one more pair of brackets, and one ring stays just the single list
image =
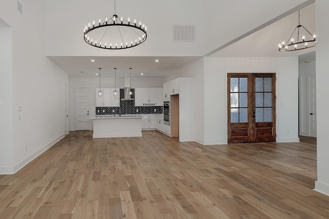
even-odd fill
[{"label": "black-and-white herringbone tile backsplash behind the kitchen counter", "polygon": [[[134,94],[133,89],[131,98],[135,98]],[[135,107],[135,101],[121,101],[121,98],[124,98],[124,89],[120,89],[120,107],[96,107],[96,115],[120,114],[120,110],[121,114],[162,114],[162,106]]]}]

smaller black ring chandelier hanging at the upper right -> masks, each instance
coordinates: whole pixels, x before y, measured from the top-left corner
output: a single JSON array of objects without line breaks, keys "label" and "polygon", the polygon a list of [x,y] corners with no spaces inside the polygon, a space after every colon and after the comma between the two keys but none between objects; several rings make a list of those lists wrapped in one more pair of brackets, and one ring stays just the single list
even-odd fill
[{"label": "smaller black ring chandelier hanging at the upper right", "polygon": [[[304,28],[301,30],[304,30],[303,32],[305,32],[306,30],[306,34],[310,35],[312,37],[312,39],[306,39],[305,36],[302,36],[302,39],[300,41],[300,28]],[[295,39],[292,38],[295,31],[297,30],[297,42],[295,42]],[[295,35],[296,36],[296,35]],[[290,42],[290,44],[289,44]],[[280,52],[288,52],[288,51],[296,51],[296,50],[301,50],[301,49],[307,49],[307,48],[311,48],[311,47],[315,47],[316,45],[316,35],[313,35],[312,33],[310,33],[303,25],[300,25],[300,11],[298,11],[298,26],[295,28],[294,32],[290,35],[287,43],[285,44],[284,42],[282,42],[282,44],[279,44],[279,51]]]}]

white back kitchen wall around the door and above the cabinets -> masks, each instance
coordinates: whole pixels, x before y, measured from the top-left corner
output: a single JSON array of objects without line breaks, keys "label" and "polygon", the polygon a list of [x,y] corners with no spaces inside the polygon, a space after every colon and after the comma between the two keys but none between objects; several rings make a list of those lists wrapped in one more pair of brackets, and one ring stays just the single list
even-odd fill
[{"label": "white back kitchen wall around the door and above the cabinets", "polygon": [[[113,77],[101,77],[102,88],[114,88]],[[124,78],[117,78],[117,88],[124,88]],[[96,88],[99,87],[99,78],[69,78],[68,79],[68,129],[75,130],[74,91],[75,88],[89,88],[89,114],[95,115]],[[163,87],[162,77],[132,77],[132,88],[136,87]],[[92,124],[89,125],[92,129]]]}]

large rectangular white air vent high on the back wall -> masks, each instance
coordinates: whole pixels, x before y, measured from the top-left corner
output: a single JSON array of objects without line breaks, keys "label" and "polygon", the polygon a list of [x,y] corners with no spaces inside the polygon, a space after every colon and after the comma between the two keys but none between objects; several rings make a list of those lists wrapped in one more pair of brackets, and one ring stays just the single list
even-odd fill
[{"label": "large rectangular white air vent high on the back wall", "polygon": [[195,25],[173,25],[174,42],[195,42]]}]

